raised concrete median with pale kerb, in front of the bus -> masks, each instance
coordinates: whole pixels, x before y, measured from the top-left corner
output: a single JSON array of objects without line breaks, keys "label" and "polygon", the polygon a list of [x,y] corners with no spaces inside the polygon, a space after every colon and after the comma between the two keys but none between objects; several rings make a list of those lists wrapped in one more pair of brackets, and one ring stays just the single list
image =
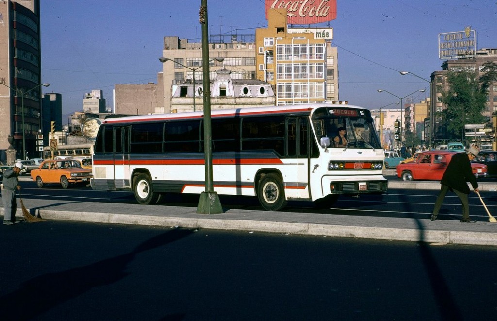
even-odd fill
[{"label": "raised concrete median with pale kerb, in front of the bus", "polygon": [[[259,231],[397,241],[497,245],[497,224],[457,220],[268,212],[228,209],[215,215],[196,208],[24,199],[31,214],[46,220]],[[3,215],[3,206],[1,208]],[[16,216],[22,217],[20,205]],[[28,223],[23,223],[28,224]],[[43,224],[43,223],[38,223]],[[36,224],[33,224],[35,228]]]}]

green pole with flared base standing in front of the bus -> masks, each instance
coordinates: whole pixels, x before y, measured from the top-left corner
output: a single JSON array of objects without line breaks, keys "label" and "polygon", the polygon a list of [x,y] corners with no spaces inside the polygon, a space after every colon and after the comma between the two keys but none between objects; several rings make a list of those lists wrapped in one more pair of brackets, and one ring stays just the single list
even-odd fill
[{"label": "green pole with flared base standing in front of the bus", "polygon": [[[207,23],[207,0],[202,0],[199,11],[202,25],[202,65],[209,66],[209,24]],[[197,214],[223,213],[217,192],[214,191],[212,175],[212,127],[211,127],[211,89],[209,68],[203,69],[204,85],[204,153],[205,153],[205,192],[200,194]]]}]

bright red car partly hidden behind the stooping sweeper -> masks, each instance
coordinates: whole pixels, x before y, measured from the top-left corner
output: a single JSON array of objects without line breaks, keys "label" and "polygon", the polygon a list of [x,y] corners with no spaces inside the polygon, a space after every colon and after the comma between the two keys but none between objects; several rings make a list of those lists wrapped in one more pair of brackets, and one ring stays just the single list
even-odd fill
[{"label": "bright red car partly hidden behind the stooping sweeper", "polygon": [[[448,151],[423,152],[417,160],[397,165],[397,176],[404,180],[441,180],[445,168],[455,154]],[[471,166],[477,178],[487,176],[487,165],[472,162]]]}]

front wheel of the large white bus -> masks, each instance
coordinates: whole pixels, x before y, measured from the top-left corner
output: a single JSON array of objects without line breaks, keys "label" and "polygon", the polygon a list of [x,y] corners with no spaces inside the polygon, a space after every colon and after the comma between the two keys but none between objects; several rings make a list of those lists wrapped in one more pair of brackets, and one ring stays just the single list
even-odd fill
[{"label": "front wheel of the large white bus", "polygon": [[287,204],[283,182],[276,174],[267,174],[259,182],[257,196],[267,211],[279,211]]}]

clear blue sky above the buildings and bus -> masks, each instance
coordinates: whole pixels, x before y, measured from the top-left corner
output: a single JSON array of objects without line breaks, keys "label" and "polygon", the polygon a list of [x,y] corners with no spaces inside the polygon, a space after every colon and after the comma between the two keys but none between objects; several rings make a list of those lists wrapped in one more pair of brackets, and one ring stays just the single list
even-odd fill
[{"label": "clear blue sky above the buildings and bus", "polygon": [[[317,0],[319,1],[319,0]],[[102,89],[107,106],[117,83],[157,82],[164,36],[201,37],[201,0],[42,0],[44,92],[62,94],[63,113],[83,109]],[[267,26],[264,0],[208,0],[211,35],[254,34]],[[337,0],[330,22],[338,47],[339,99],[368,108],[428,87],[441,70],[438,34],[476,30],[477,49],[497,47],[496,0]],[[298,27],[298,26],[295,26]],[[414,102],[426,93],[413,95]]]}]

